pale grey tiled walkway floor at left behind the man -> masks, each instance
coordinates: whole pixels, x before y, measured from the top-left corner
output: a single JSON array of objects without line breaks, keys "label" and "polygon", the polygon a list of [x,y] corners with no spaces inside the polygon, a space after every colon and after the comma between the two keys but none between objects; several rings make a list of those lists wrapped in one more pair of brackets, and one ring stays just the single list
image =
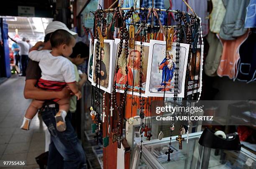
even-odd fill
[{"label": "pale grey tiled walkway floor at left behind the man", "polygon": [[[35,157],[44,152],[44,130],[41,117],[34,117],[30,130],[20,129],[31,100],[24,99],[25,77],[13,76],[0,85],[0,160],[27,160],[26,167],[37,169]],[[11,167],[9,167],[11,168]]]}]

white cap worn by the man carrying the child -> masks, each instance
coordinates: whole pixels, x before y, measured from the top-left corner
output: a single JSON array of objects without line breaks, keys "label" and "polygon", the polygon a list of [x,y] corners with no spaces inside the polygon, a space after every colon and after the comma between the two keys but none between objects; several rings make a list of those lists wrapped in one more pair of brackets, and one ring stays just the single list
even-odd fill
[{"label": "white cap worn by the man carrying the child", "polygon": [[49,25],[47,25],[46,29],[45,29],[45,35],[54,32],[55,30],[66,30],[67,32],[69,32],[71,35],[73,35],[75,38],[77,37],[77,33],[73,32],[71,30],[69,30],[69,28],[67,28],[67,26],[59,21],[53,21],[51,23],[49,23]]}]

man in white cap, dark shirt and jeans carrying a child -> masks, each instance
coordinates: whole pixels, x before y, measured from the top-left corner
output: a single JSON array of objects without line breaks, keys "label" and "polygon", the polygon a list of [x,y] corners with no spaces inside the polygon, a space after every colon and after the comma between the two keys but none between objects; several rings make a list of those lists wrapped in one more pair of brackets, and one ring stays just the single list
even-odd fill
[{"label": "man in white cap, dark shirt and jeans carrying a child", "polygon": [[[67,30],[73,36],[77,33],[70,31],[67,26],[59,21],[49,23],[45,30],[44,47],[42,50],[51,50],[50,37],[56,30]],[[29,60],[24,88],[24,97],[26,99],[55,99],[70,96],[70,90],[64,87],[61,91],[47,91],[36,87],[36,83],[41,78],[41,69],[38,62]],[[71,124],[71,113],[67,113],[66,125],[64,132],[56,129],[55,115],[59,111],[59,106],[55,102],[45,102],[44,109],[41,109],[41,117],[46,124],[50,134],[51,141],[49,144],[49,156],[47,168],[49,169],[86,169],[86,157],[84,149],[77,139],[77,134]]]}]

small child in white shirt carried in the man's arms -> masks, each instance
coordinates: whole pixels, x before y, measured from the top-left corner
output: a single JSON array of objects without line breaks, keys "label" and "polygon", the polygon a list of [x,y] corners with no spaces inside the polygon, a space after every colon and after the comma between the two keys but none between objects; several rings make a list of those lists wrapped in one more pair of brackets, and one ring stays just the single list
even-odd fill
[{"label": "small child in white shirt carried in the man's arms", "polygon": [[[39,67],[42,71],[42,76],[37,86],[46,90],[61,90],[68,85],[77,96],[77,99],[80,99],[82,94],[76,84],[74,66],[66,58],[72,54],[72,48],[76,43],[74,37],[66,30],[56,30],[52,33],[50,42],[51,51],[37,51],[43,45],[43,42],[37,42],[28,55],[31,60],[39,62]],[[55,116],[56,128],[59,132],[62,132],[66,130],[65,117],[69,111],[69,98],[54,99],[54,102],[59,104],[59,112]],[[33,99],[26,111],[21,129],[29,129],[31,119],[36,115],[38,109],[42,107],[43,103],[43,100]]]}]

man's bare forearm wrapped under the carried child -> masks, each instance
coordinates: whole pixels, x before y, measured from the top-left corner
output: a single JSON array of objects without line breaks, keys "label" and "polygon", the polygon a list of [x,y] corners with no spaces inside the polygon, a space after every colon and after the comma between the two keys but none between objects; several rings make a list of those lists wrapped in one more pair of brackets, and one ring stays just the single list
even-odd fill
[{"label": "man's bare forearm wrapped under the carried child", "polygon": [[47,99],[62,99],[70,96],[70,90],[64,87],[61,91],[47,91],[37,88],[35,85],[37,83],[36,79],[28,79],[25,83],[24,97],[26,99],[37,99],[37,100],[47,100]]}]

